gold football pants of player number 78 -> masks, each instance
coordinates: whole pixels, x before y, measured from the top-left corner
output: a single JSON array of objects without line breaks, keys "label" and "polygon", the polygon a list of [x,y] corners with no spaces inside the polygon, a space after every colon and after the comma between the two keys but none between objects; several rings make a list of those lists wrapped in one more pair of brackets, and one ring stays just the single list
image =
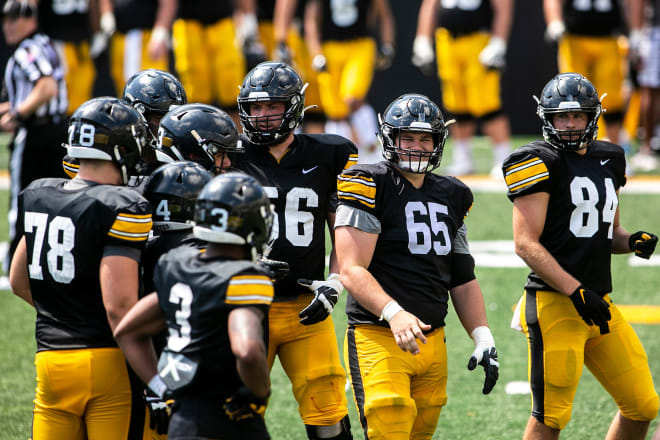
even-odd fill
[{"label": "gold football pants of player number 78", "polygon": [[119,348],[37,353],[32,439],[126,438],[131,386]]}]

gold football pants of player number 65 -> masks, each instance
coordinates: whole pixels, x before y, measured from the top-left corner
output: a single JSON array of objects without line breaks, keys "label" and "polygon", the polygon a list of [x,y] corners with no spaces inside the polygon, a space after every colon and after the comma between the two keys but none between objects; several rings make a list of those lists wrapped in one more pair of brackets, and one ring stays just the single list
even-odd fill
[{"label": "gold football pants of player number 65", "polygon": [[389,328],[350,326],[344,339],[362,428],[370,440],[431,439],[447,403],[445,329],[426,335],[420,353],[396,344]]}]

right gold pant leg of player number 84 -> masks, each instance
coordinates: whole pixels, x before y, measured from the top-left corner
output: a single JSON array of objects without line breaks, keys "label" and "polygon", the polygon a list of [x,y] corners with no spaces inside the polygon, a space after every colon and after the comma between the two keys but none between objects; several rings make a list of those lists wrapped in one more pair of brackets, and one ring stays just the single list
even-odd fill
[{"label": "right gold pant leg of player number 84", "polygon": [[653,420],[658,414],[658,394],[646,352],[614,304],[610,312],[610,333],[587,341],[584,363],[614,398],[624,417]]}]

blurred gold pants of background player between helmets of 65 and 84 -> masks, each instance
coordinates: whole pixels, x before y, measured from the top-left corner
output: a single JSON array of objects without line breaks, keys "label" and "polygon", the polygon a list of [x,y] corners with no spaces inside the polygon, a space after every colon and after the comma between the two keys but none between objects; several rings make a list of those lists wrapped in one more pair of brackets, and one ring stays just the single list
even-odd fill
[{"label": "blurred gold pants of background player between helmets of 65 and 84", "polygon": [[447,111],[478,118],[500,110],[500,74],[479,62],[489,39],[485,32],[454,38],[447,29],[436,30],[438,76]]}]

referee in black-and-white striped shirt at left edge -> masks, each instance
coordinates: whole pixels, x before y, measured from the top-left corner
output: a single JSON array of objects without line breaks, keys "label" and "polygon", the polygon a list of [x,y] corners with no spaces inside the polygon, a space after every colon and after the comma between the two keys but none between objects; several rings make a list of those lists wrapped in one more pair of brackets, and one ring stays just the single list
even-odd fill
[{"label": "referee in black-and-white striped shirt at left edge", "polygon": [[60,57],[50,39],[37,31],[37,7],[8,0],[2,9],[5,41],[17,46],[5,68],[7,101],[0,103],[0,130],[14,135],[9,146],[8,272],[20,236],[16,234],[18,194],[33,180],[64,177],[67,88]]}]

